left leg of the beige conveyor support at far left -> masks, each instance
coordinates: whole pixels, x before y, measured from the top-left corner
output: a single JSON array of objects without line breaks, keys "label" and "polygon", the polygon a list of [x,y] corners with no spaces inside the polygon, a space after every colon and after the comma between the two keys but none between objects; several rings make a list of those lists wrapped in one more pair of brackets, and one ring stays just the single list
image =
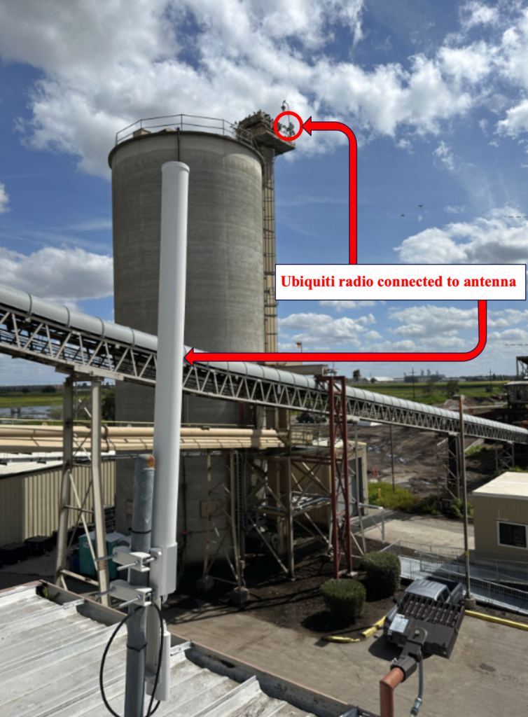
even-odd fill
[{"label": "left leg of the beige conveyor support at far left", "polygon": [[68,376],[62,389],[62,484],[60,488],[59,529],[55,584],[66,587],[62,571],[68,552],[68,517],[70,516],[70,475],[73,470],[73,378]]}]

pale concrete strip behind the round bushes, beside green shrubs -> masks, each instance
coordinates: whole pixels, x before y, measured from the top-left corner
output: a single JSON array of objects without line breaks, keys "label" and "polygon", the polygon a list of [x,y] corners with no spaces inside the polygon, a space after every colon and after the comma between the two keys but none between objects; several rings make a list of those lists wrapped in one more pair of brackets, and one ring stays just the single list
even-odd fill
[{"label": "pale concrete strip behind the round bushes, beside green shrubs", "polygon": [[[380,540],[380,516],[367,516],[364,518],[365,536],[373,540]],[[414,513],[400,513],[400,511],[386,511],[385,513],[385,543],[395,543],[397,540],[406,540],[413,543],[425,543],[448,548],[463,548],[464,533],[462,521],[446,521],[445,518],[435,516],[420,516]],[[359,527],[354,529],[357,533]],[[468,526],[469,548],[475,547],[473,525]]]}]

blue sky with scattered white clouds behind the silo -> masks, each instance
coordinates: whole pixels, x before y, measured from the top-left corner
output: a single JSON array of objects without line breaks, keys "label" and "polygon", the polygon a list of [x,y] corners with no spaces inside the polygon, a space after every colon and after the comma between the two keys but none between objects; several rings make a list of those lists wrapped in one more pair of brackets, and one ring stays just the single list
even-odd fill
[{"label": "blue sky with scattered white clouds behind the silo", "polygon": [[[527,263],[528,219],[509,218],[528,214],[527,57],[524,0],[0,0],[0,282],[111,319],[115,132],[171,113],[275,116],[285,98],[356,133],[359,263]],[[347,262],[344,138],[304,133],[275,179],[278,262]],[[526,302],[488,312],[471,362],[340,368],[514,373]],[[279,317],[283,350],[477,338],[468,302],[282,302]],[[1,356],[0,371],[56,380]]]}]

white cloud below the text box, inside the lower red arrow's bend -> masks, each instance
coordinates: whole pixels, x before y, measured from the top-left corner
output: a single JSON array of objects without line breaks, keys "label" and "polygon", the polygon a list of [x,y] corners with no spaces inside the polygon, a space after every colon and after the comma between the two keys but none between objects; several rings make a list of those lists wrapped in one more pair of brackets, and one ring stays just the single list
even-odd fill
[{"label": "white cloud below the text box, inside the lower red arrow's bend", "polygon": [[391,333],[405,338],[437,338],[456,336],[458,331],[477,326],[477,309],[458,309],[454,306],[411,306],[389,312],[389,320],[400,321],[403,326],[390,329]]}]

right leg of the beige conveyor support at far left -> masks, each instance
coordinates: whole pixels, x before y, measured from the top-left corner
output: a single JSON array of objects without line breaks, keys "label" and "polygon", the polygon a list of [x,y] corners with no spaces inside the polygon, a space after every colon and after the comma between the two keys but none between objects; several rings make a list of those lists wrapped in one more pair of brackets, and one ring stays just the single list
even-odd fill
[{"label": "right leg of the beige conveyor support at far left", "polygon": [[[108,555],[106,549],[105,508],[103,504],[103,484],[101,480],[101,384],[92,381],[92,490],[93,490],[93,519],[95,523],[95,557],[103,558]],[[87,536],[89,540],[89,536]],[[108,575],[108,561],[100,560],[95,563],[98,571],[99,592],[106,592],[110,588]],[[110,595],[101,597],[101,603],[110,607]]]}]

